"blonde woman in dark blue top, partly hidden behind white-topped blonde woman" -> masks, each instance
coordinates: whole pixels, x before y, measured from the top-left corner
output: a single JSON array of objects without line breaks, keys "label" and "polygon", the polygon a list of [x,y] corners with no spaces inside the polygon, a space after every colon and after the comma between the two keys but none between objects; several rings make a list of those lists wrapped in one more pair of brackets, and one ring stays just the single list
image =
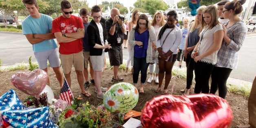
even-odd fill
[{"label": "blonde woman in dark blue top, partly hidden behind white-topped blonde woman", "polygon": [[185,51],[184,51],[184,57],[186,58],[186,66],[187,66],[187,86],[183,90],[181,90],[181,93],[184,93],[185,95],[189,95],[190,93],[190,87],[192,85],[193,80],[193,71],[194,71],[194,60],[191,59],[191,53],[193,49],[196,46],[196,43],[199,42],[199,30],[201,28],[201,20],[203,18],[203,9],[205,9],[206,6],[201,6],[198,9],[196,9],[196,18],[194,22],[190,25],[188,38],[185,42]]}]

